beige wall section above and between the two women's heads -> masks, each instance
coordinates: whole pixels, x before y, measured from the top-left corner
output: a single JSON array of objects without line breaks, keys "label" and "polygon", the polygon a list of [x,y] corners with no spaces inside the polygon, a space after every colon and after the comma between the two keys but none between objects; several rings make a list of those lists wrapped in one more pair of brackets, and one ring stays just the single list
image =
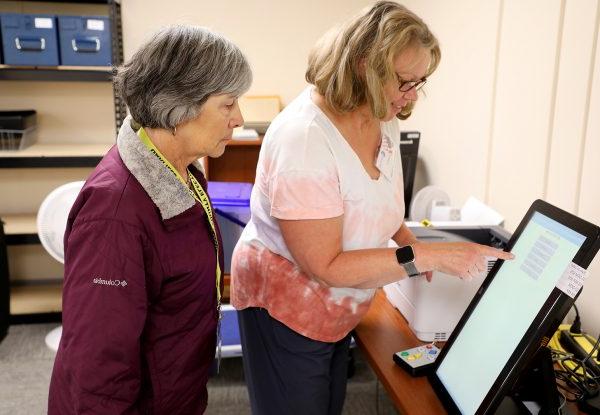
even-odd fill
[{"label": "beige wall section above and between the two women's heads", "polygon": [[[278,94],[288,103],[302,91],[308,52],[331,26],[367,0],[125,0],[122,3],[125,58],[162,26],[198,24],[220,32],[246,54],[254,71],[250,94]],[[318,12],[317,12],[318,11]]]}]

